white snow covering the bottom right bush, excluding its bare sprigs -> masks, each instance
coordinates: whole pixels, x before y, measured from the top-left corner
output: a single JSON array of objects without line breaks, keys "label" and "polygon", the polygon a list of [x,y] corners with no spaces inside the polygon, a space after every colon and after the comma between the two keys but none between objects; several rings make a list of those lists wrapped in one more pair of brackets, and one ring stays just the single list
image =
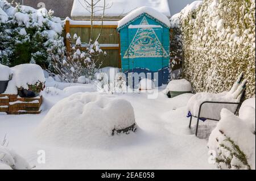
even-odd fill
[{"label": "white snow covering the bottom right bush, excluding its bare sprigs", "polygon": [[[241,151],[245,153],[251,169],[255,169],[255,134],[251,133],[248,125],[240,117],[229,110],[223,109],[221,120],[210,134],[208,147],[216,153],[218,159],[224,159],[224,156],[231,159],[232,167],[229,169],[237,169],[233,165],[240,165],[242,166],[241,169],[248,169],[235,156],[230,154],[229,150],[220,146],[224,144],[233,150],[232,145],[226,141],[227,137],[240,147]],[[220,163],[218,167],[228,169],[224,163]]]}]

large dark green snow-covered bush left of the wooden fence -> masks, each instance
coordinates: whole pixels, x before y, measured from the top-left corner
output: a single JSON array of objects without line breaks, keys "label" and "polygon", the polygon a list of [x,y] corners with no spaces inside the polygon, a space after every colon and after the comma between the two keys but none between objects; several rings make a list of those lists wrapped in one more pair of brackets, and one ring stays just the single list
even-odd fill
[{"label": "large dark green snow-covered bush left of the wooden fence", "polygon": [[11,6],[0,1],[0,10],[8,20],[0,22],[0,62],[15,66],[33,63],[51,69],[51,56],[47,50],[59,55],[64,49],[63,23],[53,11],[29,6]]}]

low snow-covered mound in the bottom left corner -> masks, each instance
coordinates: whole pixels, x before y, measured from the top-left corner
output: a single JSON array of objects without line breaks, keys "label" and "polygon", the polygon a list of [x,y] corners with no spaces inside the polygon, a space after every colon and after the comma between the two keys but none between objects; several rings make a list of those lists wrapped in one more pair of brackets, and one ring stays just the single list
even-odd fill
[{"label": "low snow-covered mound in the bottom left corner", "polygon": [[15,151],[0,145],[0,170],[28,170],[30,164]]}]

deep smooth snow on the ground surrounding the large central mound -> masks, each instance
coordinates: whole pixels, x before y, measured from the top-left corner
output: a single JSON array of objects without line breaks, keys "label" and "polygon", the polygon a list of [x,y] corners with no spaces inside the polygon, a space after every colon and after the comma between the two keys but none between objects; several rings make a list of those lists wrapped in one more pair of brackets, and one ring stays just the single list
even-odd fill
[{"label": "deep smooth snow on the ground surrounding the large central mound", "polygon": [[[185,106],[192,94],[172,99],[162,92],[157,99],[147,99],[147,93],[114,94],[133,106],[137,131],[110,136],[108,144],[65,147],[36,140],[35,128],[59,100],[75,92],[91,92],[92,85],[59,83],[51,78],[46,85],[51,87],[43,91],[40,115],[0,115],[0,140],[7,133],[8,148],[35,169],[215,169],[208,163],[207,140],[188,129]],[[37,162],[38,150],[46,151],[45,164]]]}]

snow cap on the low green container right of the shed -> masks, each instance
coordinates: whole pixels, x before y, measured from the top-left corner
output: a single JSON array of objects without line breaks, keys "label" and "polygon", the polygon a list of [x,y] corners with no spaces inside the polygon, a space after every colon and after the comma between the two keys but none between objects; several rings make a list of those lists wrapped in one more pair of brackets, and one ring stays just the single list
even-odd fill
[{"label": "snow cap on the low green container right of the shed", "polygon": [[175,92],[190,92],[192,91],[192,86],[186,79],[179,79],[169,82],[167,89]]}]

